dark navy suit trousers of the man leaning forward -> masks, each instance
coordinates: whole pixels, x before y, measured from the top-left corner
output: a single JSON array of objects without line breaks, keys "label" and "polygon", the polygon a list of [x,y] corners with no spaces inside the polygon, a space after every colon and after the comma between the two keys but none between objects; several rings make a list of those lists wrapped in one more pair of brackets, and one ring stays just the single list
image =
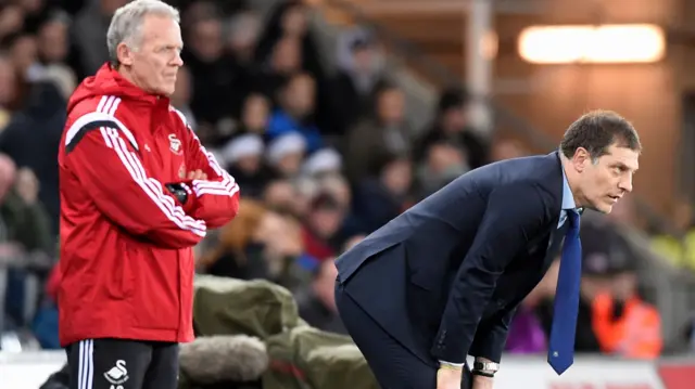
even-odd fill
[{"label": "dark navy suit trousers of the man leaning forward", "polygon": [[[383,389],[435,389],[437,367],[428,365],[381,327],[336,283],[336,304],[353,341]],[[468,366],[462,389],[472,387]]]}]

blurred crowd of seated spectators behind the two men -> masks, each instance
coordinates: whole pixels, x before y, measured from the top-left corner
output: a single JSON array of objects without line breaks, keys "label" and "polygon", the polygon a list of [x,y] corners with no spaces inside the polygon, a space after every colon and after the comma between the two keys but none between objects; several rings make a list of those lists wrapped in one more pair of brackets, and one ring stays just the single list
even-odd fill
[{"label": "blurred crowd of seated spectators behind the two men", "polygon": [[[0,348],[59,348],[56,154],[66,99],[106,60],[111,14],[126,0],[8,0],[0,5]],[[267,278],[292,290],[313,326],[344,333],[332,259],[447,182],[528,154],[470,126],[469,96],[441,92],[427,128],[363,29],[323,52],[311,9],[177,0],[186,48],[172,104],[239,182],[237,219],[197,247],[198,271]],[[329,72],[323,57],[337,64]],[[655,358],[660,316],[639,290],[634,252],[610,218],[583,218],[578,350]],[[668,244],[667,244],[668,245]],[[680,246],[679,246],[680,247]],[[695,246],[694,246],[695,247]],[[695,250],[693,250],[695,252]],[[518,311],[508,351],[545,351],[554,268]]]}]

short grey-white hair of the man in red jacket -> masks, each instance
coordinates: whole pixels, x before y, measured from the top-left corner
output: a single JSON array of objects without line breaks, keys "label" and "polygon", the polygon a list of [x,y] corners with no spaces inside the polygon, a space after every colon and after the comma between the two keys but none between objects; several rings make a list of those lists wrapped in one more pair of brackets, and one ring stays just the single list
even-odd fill
[{"label": "short grey-white hair of the man in red jacket", "polygon": [[117,9],[106,33],[109,61],[113,66],[118,65],[116,53],[118,44],[126,43],[137,50],[139,43],[137,38],[141,33],[142,21],[150,14],[168,16],[176,23],[180,23],[178,10],[160,0],[135,0]]}]

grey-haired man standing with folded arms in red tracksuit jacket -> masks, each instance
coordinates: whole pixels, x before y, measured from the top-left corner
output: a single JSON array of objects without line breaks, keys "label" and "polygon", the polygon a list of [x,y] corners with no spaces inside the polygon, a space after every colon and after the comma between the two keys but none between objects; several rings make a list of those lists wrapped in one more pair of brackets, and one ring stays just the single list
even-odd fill
[{"label": "grey-haired man standing with folded arms in red tracksuit jacket", "polygon": [[229,222],[239,186],[169,105],[178,12],[118,9],[111,61],[68,103],[59,155],[60,339],[72,389],[174,389],[192,333],[192,247]]}]

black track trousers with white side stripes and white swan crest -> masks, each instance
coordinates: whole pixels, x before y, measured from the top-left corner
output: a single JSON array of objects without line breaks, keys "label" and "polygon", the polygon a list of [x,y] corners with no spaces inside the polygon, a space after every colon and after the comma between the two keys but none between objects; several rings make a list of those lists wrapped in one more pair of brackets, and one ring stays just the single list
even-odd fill
[{"label": "black track trousers with white side stripes and white swan crest", "polygon": [[67,346],[70,389],[176,389],[178,343],[87,339]]}]

